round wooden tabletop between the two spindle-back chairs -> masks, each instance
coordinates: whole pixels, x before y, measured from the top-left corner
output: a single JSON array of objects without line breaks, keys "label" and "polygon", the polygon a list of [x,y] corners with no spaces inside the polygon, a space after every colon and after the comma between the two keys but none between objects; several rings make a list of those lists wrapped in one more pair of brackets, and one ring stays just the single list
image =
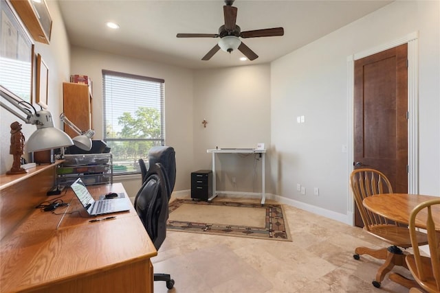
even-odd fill
[{"label": "round wooden tabletop between the two spindle-back chairs", "polygon": [[[395,222],[408,224],[412,209],[426,200],[434,200],[437,196],[421,196],[417,194],[377,194],[362,200],[366,209],[382,215]],[[426,213],[422,211],[417,216],[415,225],[426,228]],[[440,207],[432,207],[432,213],[436,226],[440,225]]]}]

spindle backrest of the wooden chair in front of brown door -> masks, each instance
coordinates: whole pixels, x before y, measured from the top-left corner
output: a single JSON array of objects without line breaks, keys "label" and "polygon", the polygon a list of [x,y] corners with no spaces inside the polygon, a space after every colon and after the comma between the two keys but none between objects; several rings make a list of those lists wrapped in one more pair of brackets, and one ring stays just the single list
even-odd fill
[{"label": "spindle backrest of the wooden chair in front of brown door", "polygon": [[366,231],[370,231],[371,226],[394,224],[390,220],[377,215],[377,213],[369,211],[362,204],[362,200],[368,196],[393,193],[390,181],[382,172],[368,168],[355,169],[351,172],[350,181],[356,206],[359,209]]}]

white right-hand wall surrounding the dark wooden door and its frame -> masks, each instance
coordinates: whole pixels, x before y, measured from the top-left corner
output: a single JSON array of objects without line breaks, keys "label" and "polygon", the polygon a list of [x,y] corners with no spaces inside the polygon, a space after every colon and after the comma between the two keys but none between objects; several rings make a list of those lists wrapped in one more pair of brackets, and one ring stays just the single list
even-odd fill
[{"label": "white right-hand wall surrounding the dark wooden door and its frame", "polygon": [[[276,194],[347,214],[347,56],[412,32],[419,32],[419,187],[422,194],[440,194],[439,4],[395,1],[272,62]],[[296,123],[300,115],[305,124]],[[306,187],[306,195],[296,191],[296,183]]]}]

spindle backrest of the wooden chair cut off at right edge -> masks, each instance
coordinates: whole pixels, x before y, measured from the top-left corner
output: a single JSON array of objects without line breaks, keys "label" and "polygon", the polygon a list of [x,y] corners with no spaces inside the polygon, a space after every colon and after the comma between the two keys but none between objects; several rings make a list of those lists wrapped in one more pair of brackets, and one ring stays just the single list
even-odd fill
[{"label": "spindle backrest of the wooden chair cut off at right edge", "polygon": [[[415,207],[410,214],[409,229],[412,249],[414,250],[414,259],[417,267],[418,279],[421,281],[426,281],[426,276],[428,275],[427,270],[431,270],[431,274],[432,276],[434,276],[437,290],[440,292],[440,233],[436,232],[435,223],[432,218],[431,209],[434,204],[440,204],[440,198],[435,200],[428,200]],[[426,219],[426,233],[428,234],[428,246],[432,268],[428,268],[422,265],[420,250],[417,244],[415,219],[417,218],[417,214],[423,211],[423,209],[426,209],[426,213],[428,215]],[[437,227],[437,229],[439,228],[440,227]]]}]

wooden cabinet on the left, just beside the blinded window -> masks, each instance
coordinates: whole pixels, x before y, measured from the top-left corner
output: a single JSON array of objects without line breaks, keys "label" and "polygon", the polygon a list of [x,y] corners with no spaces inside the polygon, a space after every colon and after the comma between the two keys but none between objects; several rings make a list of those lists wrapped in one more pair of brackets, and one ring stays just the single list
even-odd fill
[{"label": "wooden cabinet on the left, just beside the blinded window", "polygon": [[[91,93],[87,84],[63,82],[63,112],[82,131],[92,129]],[[78,134],[64,124],[64,131],[74,138]]]}]

